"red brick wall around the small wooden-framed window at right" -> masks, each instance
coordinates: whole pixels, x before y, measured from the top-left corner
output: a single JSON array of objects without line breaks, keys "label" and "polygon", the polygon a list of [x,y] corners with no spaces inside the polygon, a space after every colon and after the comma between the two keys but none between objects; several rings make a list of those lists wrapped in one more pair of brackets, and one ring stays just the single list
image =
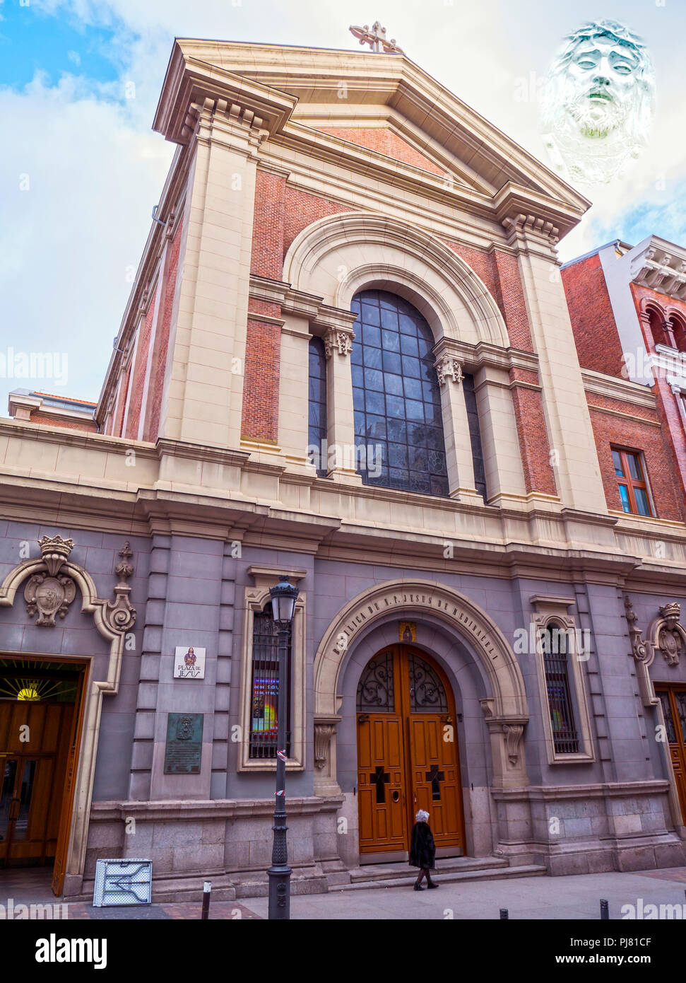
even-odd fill
[{"label": "red brick wall around the small wooden-framed window at right", "polygon": [[[595,393],[587,393],[587,400],[598,448],[607,507],[621,512],[621,499],[617,491],[610,445],[628,447],[643,451],[648,484],[653,495],[657,517],[676,522],[686,521],[684,495],[679,488],[681,481],[678,469],[675,467],[668,434],[664,428],[658,429],[650,426],[649,423],[649,421],[659,423],[660,415],[648,407],[634,406]],[[627,420],[602,413],[594,410],[594,406],[614,409],[633,417],[642,417],[647,422],[644,424],[638,420]]]}]

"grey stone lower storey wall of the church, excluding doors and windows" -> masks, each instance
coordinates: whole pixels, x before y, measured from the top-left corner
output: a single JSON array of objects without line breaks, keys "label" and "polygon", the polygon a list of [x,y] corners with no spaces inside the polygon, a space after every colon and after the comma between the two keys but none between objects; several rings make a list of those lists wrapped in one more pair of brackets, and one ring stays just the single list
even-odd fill
[{"label": "grey stone lower storey wall of the church, excluding doors and windows", "polygon": [[[14,522],[5,524],[3,532],[3,577],[20,562],[23,549],[26,556],[26,543],[34,555],[42,535],[60,534],[74,539],[72,559],[92,576],[99,596],[111,594],[121,537]],[[239,741],[232,734],[240,721],[243,597],[253,585],[248,569],[276,570],[284,563],[304,571],[299,588],[307,612],[306,754],[302,771],[288,778],[295,892],[326,891],[349,879],[349,870],[359,863],[355,693],[364,665],[397,640],[397,613],[362,629],[343,659],[336,735],[339,795],[315,790],[315,654],[353,597],[398,576],[436,581],[460,592],[488,612],[510,645],[516,631],[528,627],[530,599],[536,596],[574,598],[570,614],[591,632],[583,679],[594,760],[550,763],[535,658],[520,654],[530,715],[522,738],[529,784],[494,787],[492,745],[480,704],[492,694],[473,646],[440,618],[421,609],[412,614],[417,645],[443,666],[454,693],[468,855],[544,863],[554,874],[673,866],[686,859],[683,827],[670,811],[663,748],[655,739],[656,710],[640,698],[625,591],[616,585],[449,571],[432,575],[247,547],[235,557],[231,543],[181,535],[132,537],[130,542],[137,619],[118,692],[102,702],[85,865],[82,879],[68,878],[68,895],[89,893],[98,857],[127,855],[152,859],[158,897],[185,896],[205,877],[212,878],[220,896],[266,891],[273,773],[240,771]],[[665,603],[658,594],[632,599],[638,623],[646,626]],[[686,603],[686,598],[669,600]],[[93,677],[105,671],[108,646],[92,618],[80,611],[79,599],[63,621],[49,628],[32,623],[18,595],[12,607],[0,608],[0,633],[4,654],[80,657],[93,661]],[[175,647],[190,644],[207,650],[205,678],[175,680]],[[651,677],[686,682],[686,659],[670,666],[658,654]],[[163,774],[170,712],[203,715],[199,775]]]}]

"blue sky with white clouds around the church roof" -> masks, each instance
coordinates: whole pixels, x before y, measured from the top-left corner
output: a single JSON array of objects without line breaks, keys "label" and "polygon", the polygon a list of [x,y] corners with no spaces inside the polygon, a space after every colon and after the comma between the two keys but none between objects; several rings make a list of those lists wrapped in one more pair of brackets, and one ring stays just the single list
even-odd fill
[{"label": "blue sky with white clouds around the church roof", "polygon": [[580,189],[593,207],[562,260],[653,232],[686,242],[686,0],[0,0],[0,354],[59,352],[69,366],[59,387],[0,377],[0,414],[18,386],[97,399],[172,158],[151,123],[175,35],[359,50],[348,25],[379,19],[545,161],[539,106],[515,93],[545,75],[565,33],[602,18],[648,43],[653,137],[624,178]]}]

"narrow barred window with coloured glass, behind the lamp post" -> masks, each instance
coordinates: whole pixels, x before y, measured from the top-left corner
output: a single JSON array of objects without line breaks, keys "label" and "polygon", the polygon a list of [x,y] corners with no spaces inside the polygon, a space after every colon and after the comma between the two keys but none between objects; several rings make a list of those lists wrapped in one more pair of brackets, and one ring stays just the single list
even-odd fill
[{"label": "narrow barred window with coloured glass, behind the lamp post", "polygon": [[[289,631],[288,665],[291,665]],[[290,671],[286,753],[290,755]],[[279,713],[279,633],[271,602],[255,612],[252,623],[252,686],[250,712],[250,758],[276,758]]]}]

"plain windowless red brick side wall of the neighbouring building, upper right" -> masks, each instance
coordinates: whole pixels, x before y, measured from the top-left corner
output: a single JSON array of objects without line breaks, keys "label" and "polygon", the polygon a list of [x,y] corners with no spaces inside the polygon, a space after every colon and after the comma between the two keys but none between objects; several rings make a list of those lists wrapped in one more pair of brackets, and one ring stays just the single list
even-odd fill
[{"label": "plain windowless red brick side wall of the neighbouring building, upper right", "polygon": [[600,256],[565,266],[561,277],[582,369],[626,377]]}]

